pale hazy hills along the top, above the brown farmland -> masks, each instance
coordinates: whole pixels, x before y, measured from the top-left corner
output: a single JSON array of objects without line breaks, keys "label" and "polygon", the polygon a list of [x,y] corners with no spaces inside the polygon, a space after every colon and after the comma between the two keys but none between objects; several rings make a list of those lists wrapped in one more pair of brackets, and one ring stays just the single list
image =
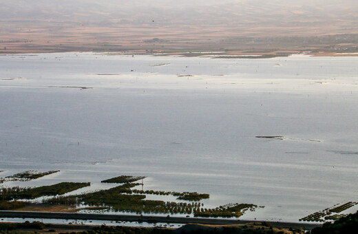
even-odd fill
[{"label": "pale hazy hills along the top, above the brown farmland", "polygon": [[[73,23],[133,23],[189,25],[322,26],[330,23],[355,28],[358,3],[354,1],[3,1],[1,21],[66,21]],[[317,28],[315,29],[317,30]],[[343,28],[342,28],[343,30]],[[324,32],[328,33],[328,32]],[[335,33],[335,32],[333,32]],[[339,32],[337,32],[339,33]]]}]

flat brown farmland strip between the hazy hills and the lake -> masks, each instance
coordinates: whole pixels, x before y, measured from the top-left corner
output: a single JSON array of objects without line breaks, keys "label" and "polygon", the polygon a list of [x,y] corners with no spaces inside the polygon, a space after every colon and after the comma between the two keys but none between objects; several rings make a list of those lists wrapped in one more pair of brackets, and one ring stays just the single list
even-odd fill
[{"label": "flat brown farmland strip between the hazy hills and the lake", "polygon": [[[225,54],[315,52],[348,56],[358,52],[358,28],[331,25],[304,28],[281,25],[81,25],[48,21],[8,21],[1,25],[0,54],[34,52],[180,53],[224,51]],[[355,34],[354,34],[355,33]],[[342,35],[343,34],[343,35]],[[325,52],[317,54],[317,52]],[[353,54],[354,56],[357,56]]]}]

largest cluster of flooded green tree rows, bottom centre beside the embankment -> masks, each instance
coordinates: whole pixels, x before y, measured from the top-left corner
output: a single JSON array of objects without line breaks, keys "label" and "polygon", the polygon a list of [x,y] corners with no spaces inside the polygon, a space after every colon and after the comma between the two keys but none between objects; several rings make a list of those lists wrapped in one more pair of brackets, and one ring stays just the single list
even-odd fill
[{"label": "largest cluster of flooded green tree rows, bottom centre beside the embankment", "polygon": [[111,206],[114,211],[134,212],[134,213],[171,213],[171,214],[193,214],[196,217],[240,217],[244,211],[253,211],[257,206],[254,204],[228,204],[216,209],[206,209],[200,202],[164,202],[161,200],[145,200],[144,194],[162,194],[187,197],[185,199],[198,200],[202,197],[209,197],[209,194],[200,193],[176,193],[163,191],[143,191],[131,190],[138,184],[122,184],[105,191],[96,191],[83,195],[59,196],[45,200],[48,204],[78,205],[88,206]]}]

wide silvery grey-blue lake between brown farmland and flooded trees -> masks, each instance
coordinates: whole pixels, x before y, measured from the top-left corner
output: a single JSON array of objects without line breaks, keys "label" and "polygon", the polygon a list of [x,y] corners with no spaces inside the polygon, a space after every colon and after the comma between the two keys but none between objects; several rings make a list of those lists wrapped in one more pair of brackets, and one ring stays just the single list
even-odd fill
[{"label": "wide silvery grey-blue lake between brown farmland and flooded trees", "polygon": [[344,56],[0,56],[0,177],[145,175],[209,208],[265,206],[242,219],[298,221],[358,202],[357,74]]}]

